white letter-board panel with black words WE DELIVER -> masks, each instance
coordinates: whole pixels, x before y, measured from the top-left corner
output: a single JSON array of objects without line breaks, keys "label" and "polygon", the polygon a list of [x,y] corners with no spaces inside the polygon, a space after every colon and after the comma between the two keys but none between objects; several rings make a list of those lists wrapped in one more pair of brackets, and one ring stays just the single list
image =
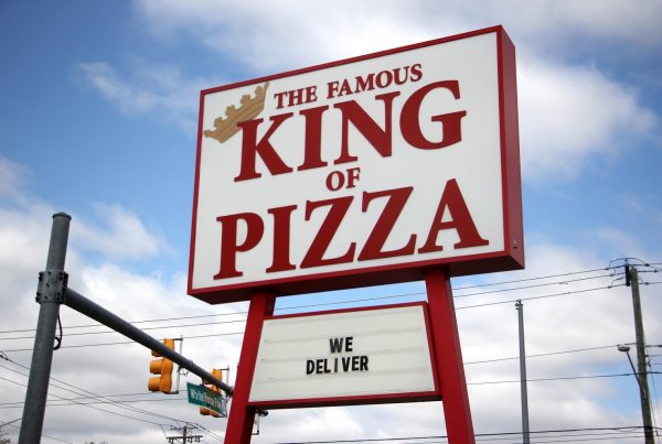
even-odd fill
[{"label": "white letter-board panel with black words WE DELIVER", "polygon": [[425,305],[265,321],[249,402],[436,394]]}]

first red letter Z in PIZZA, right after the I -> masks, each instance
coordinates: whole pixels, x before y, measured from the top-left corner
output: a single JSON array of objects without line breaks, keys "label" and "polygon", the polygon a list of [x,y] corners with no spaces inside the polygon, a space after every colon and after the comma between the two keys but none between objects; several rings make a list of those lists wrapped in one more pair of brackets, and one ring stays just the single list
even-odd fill
[{"label": "first red letter Z in PIZZA, right after the I", "polygon": [[324,253],[333,240],[340,223],[348,214],[350,205],[354,196],[337,197],[332,199],[318,201],[318,202],[306,202],[306,220],[310,220],[312,212],[319,207],[329,207],[329,213],[324,218],[317,236],[310,243],[310,248],[306,252],[303,260],[301,261],[301,268],[322,267],[331,266],[334,263],[351,262],[354,260],[354,250],[356,249],[356,242],[351,242],[348,251],[335,258],[324,259]]}]

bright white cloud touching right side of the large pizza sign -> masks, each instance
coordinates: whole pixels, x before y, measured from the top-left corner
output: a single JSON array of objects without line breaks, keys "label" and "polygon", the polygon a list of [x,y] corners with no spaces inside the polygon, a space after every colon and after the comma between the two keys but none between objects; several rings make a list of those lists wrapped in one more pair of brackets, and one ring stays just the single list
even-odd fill
[{"label": "bright white cloud touching right side of the large pizza sign", "polygon": [[626,140],[653,136],[659,121],[653,111],[595,68],[521,57],[517,69],[527,180],[574,177],[587,162],[622,152]]}]

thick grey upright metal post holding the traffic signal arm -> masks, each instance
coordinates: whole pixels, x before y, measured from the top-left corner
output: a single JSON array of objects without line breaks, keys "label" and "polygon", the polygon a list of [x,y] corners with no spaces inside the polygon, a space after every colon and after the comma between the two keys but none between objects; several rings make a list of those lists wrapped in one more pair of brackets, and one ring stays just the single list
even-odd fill
[{"label": "thick grey upright metal post holding the traffic signal arm", "polygon": [[53,362],[55,327],[60,316],[60,304],[66,290],[64,261],[71,219],[71,216],[64,213],[53,215],[46,270],[40,273],[36,293],[36,302],[40,304],[39,320],[19,444],[38,444],[41,441]]}]

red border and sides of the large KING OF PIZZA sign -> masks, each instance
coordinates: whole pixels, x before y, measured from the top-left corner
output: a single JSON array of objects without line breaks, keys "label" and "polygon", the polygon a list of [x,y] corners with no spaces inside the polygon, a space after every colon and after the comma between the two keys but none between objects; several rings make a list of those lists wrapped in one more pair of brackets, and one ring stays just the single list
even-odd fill
[{"label": "red border and sides of the large KING OF PIZZA sign", "polygon": [[[499,75],[499,110],[500,110],[500,142],[501,142],[501,172],[503,198],[503,241],[502,251],[469,255],[460,258],[438,258],[417,262],[395,263],[378,267],[367,267],[357,270],[342,270],[320,272],[317,274],[296,275],[287,278],[267,279],[263,281],[241,282],[228,285],[193,288],[193,269],[195,251],[195,227],[197,223],[197,199],[200,184],[200,159],[202,150],[204,97],[211,93],[226,89],[263,84],[267,80],[290,77],[293,75],[321,71],[370,58],[392,55],[401,52],[418,50],[426,46],[448,43],[456,40],[468,39],[483,34],[496,34],[496,68]],[[342,290],[359,286],[389,284],[398,282],[423,280],[425,270],[442,266],[451,275],[479,274],[484,272],[506,271],[524,268],[524,236],[522,223],[522,191],[520,174],[520,142],[517,127],[517,95],[515,48],[505,33],[503,26],[492,26],[431,40],[413,45],[386,50],[373,54],[362,55],[330,62],[307,68],[285,72],[250,80],[234,83],[221,87],[204,89],[200,94],[200,119],[197,128],[197,150],[195,159],[195,183],[193,195],[193,212],[191,225],[191,243],[188,277],[188,294],[211,304],[247,301],[259,289],[269,289],[276,294],[291,295],[313,293],[319,291]]]}]

